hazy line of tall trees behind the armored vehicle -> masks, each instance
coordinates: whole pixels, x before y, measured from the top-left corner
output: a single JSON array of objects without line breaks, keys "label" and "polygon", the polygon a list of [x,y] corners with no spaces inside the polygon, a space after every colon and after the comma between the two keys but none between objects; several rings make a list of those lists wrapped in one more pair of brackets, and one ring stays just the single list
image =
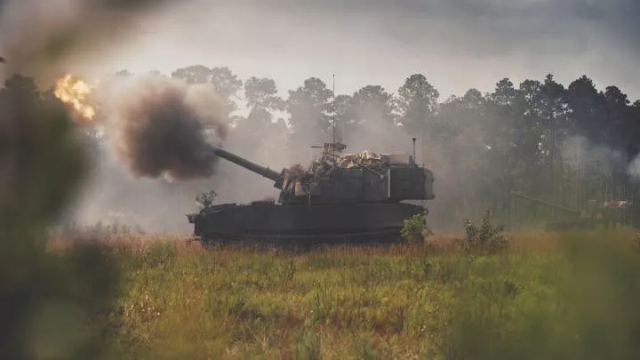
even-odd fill
[{"label": "hazy line of tall trees behind the armored vehicle", "polygon": [[233,123],[229,148],[269,165],[306,161],[310,145],[331,141],[334,120],[339,140],[373,151],[386,151],[378,149],[382,140],[419,138],[419,160],[436,174],[429,217],[444,227],[487,209],[503,221],[513,220],[515,206],[526,208],[518,210],[525,218],[548,214],[515,205],[513,191],[572,209],[588,200],[640,201],[640,100],[631,103],[616,86],[598,90],[588,76],[568,85],[550,74],[519,84],[503,78],[492,92],[470,89],[444,100],[422,74],[407,76],[396,92],[368,84],[335,99],[317,77],[283,99],[274,79],[243,80],[228,67],[196,65],[170,76],[212,84]]}]

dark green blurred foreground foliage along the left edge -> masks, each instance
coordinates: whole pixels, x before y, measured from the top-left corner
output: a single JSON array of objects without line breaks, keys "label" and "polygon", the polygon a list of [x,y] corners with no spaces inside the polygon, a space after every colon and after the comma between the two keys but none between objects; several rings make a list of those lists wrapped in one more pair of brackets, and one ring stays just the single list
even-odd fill
[{"label": "dark green blurred foreground foliage along the left edge", "polygon": [[84,152],[51,92],[13,76],[0,90],[0,358],[100,358],[115,268],[92,246],[45,252],[81,184]]}]

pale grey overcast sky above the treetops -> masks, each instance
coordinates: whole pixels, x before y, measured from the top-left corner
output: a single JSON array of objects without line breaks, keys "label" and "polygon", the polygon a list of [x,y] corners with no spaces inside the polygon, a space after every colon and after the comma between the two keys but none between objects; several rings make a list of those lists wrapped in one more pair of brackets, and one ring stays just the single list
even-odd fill
[{"label": "pale grey overcast sky above the treetops", "polygon": [[[208,0],[174,5],[92,68],[170,73],[191,64],[268,76],[279,89],[317,76],[336,91],[396,92],[422,73],[441,99],[552,73],[587,74],[640,98],[640,0]],[[88,62],[84,61],[84,65]]]}]

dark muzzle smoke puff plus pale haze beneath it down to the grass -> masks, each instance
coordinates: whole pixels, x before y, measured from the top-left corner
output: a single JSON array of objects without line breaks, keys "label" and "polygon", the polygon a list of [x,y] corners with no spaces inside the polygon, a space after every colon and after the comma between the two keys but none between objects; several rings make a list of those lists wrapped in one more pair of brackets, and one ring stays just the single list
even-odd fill
[{"label": "dark muzzle smoke puff plus pale haze beneath it down to the grass", "polygon": [[157,75],[115,76],[96,97],[104,136],[71,217],[187,233],[184,215],[214,188],[220,159],[206,148],[227,138],[224,103],[210,85]]}]

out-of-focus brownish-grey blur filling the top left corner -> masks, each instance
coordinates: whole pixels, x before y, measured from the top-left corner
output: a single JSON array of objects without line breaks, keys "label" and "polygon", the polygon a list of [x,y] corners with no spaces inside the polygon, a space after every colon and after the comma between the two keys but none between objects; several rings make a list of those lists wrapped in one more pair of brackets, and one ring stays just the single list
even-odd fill
[{"label": "out-of-focus brownish-grey blur filling the top left corner", "polygon": [[[0,55],[7,75],[49,86],[68,63],[100,57],[121,44],[164,0],[5,0],[0,2]],[[9,77],[9,76],[7,76]]]}]

